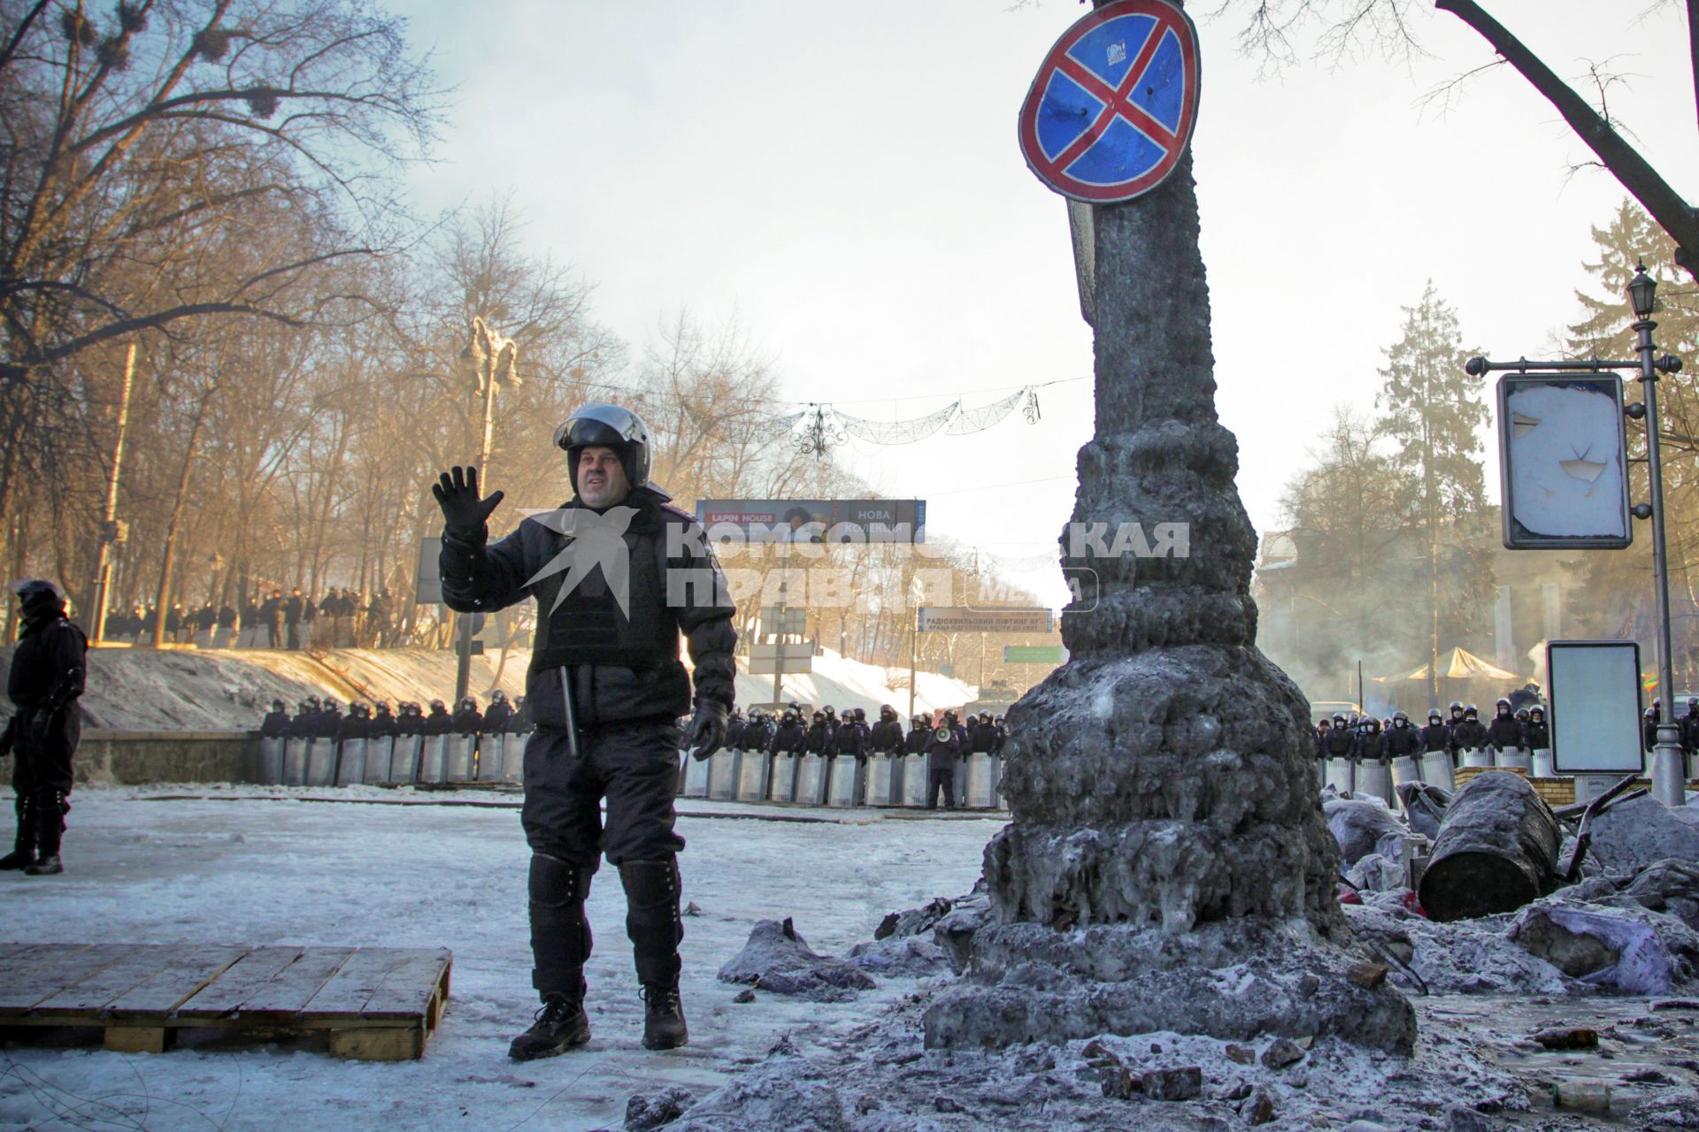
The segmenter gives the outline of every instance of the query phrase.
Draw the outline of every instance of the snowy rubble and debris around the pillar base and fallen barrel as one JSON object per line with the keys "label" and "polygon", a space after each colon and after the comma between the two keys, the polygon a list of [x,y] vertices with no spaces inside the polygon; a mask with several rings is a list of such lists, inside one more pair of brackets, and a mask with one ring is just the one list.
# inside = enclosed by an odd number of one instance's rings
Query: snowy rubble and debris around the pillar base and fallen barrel
{"label": "snowy rubble and debris around the pillar base and fallen barrel", "polygon": [[[1684,1061],[1691,1051],[1672,1044],[1699,1047],[1699,1003],[1672,998],[1699,995],[1699,806],[1672,813],[1623,786],[1563,811],[1510,774],[1480,776],[1454,798],[1405,787],[1397,811],[1376,799],[1324,798],[1341,849],[1339,899],[1361,959],[1351,979],[1432,1003],[1420,1008],[1422,1040],[1410,1057],[1273,1030],[1257,1040],[1155,1030],[928,1047],[926,1010],[958,983],[975,932],[992,918],[980,883],[967,896],[885,916],[875,939],[843,959],[814,952],[788,920],[756,925],[720,969],[739,1001],[843,1001],[889,979],[911,979],[914,989],[848,1040],[780,1040],[712,1093],[634,1096],[625,1127],[1482,1132],[1595,1127],[1589,1105],[1609,1108],[1621,1127],[1699,1127],[1699,1061]],[[1493,901],[1502,906],[1480,915],[1425,906]],[[1254,998],[1252,967],[1210,974],[1223,986],[1237,979]],[[1655,1069],[1633,1061],[1646,1042],[1658,1042]],[[1583,1073],[1577,1051],[1606,1059],[1595,1068],[1607,1084],[1575,1076]],[[1563,1059],[1570,1076],[1553,1074],[1558,1061],[1539,1062],[1541,1054]]]}

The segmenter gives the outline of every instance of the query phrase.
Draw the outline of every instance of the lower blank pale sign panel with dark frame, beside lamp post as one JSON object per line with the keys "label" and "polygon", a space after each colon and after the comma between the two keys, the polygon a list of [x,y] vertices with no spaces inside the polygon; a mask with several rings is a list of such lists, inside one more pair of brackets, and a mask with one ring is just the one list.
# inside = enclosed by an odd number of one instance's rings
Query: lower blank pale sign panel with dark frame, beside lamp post
{"label": "lower blank pale sign panel with dark frame, beside lamp post", "polygon": [[1551,764],[1558,774],[1640,774],[1640,645],[1551,642]]}

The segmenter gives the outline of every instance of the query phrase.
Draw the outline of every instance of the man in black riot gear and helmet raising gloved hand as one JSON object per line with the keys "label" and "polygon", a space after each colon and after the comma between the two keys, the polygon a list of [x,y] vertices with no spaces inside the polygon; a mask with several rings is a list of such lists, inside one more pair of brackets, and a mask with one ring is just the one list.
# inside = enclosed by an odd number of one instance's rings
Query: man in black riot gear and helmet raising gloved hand
{"label": "man in black riot gear and helmet raising gloved hand", "polygon": [[[649,482],[649,429],[590,404],[556,431],[573,499],[486,546],[501,492],[479,497],[477,470],[443,474],[443,601],[489,613],[537,599],[525,747],[535,1023],[513,1040],[520,1061],[590,1040],[584,898],[603,854],[625,888],[625,930],[642,984],[644,1045],[688,1040],[678,996],[678,752],[708,759],[725,740],[734,677],[734,606],[695,518]],[[685,669],[685,636],[695,667]],[[695,689],[691,689],[695,684]],[[688,733],[675,720],[691,711]],[[607,799],[607,828],[600,801]]]}

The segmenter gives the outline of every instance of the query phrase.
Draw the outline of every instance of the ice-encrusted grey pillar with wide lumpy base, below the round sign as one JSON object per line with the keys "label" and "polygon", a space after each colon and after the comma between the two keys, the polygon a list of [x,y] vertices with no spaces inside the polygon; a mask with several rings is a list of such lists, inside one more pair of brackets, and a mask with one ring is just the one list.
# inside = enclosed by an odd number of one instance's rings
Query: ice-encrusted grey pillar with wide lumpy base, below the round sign
{"label": "ice-encrusted grey pillar with wide lumpy base, below the round sign", "polygon": [[[1009,711],[996,922],[928,1010],[928,1044],[1177,1030],[1408,1051],[1410,1005],[1346,976],[1307,704],[1254,645],[1256,531],[1215,416],[1189,156],[1096,209],[1094,316],[1098,424],[1062,555],[1098,592],[1064,613],[1070,660]],[[1094,553],[1133,523],[1145,540]],[[1157,523],[1186,524],[1184,557],[1137,555],[1160,550]]]}

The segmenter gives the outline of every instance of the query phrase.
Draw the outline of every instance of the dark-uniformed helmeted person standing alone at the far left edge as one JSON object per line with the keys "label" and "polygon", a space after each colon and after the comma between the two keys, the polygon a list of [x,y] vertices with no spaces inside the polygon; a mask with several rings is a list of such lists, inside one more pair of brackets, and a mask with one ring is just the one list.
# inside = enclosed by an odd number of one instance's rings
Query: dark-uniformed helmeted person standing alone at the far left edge
{"label": "dark-uniformed helmeted person standing alone at the far left edge", "polygon": [[88,640],[65,616],[65,596],[42,579],[14,587],[24,633],[12,650],[5,694],[17,715],[0,733],[0,754],[12,750],[17,837],[0,869],[27,876],[65,872],[59,842],[70,813],[71,755],[82,735],[85,653]]}

